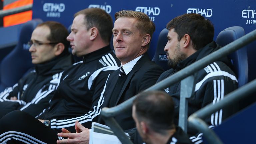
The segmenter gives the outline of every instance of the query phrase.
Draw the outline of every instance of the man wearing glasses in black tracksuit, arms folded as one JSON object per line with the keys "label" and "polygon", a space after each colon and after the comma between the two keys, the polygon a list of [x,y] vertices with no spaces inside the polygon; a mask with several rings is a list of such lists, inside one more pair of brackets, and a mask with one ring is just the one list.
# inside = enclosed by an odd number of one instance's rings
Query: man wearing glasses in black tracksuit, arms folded
{"label": "man wearing glasses in black tracksuit, arms folded", "polygon": [[0,118],[13,110],[22,110],[35,117],[49,107],[59,73],[72,65],[67,35],[67,29],[58,22],[44,22],[35,28],[29,49],[35,70],[0,94]]}

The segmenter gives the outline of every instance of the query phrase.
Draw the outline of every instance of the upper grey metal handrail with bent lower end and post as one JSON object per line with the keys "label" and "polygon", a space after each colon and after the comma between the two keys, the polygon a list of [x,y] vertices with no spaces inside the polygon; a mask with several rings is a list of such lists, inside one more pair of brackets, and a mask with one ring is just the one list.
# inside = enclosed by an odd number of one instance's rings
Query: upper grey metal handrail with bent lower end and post
{"label": "upper grey metal handrail with bent lower end and post", "polygon": [[[243,46],[249,44],[250,42],[252,42],[254,40],[256,40],[256,30],[242,36],[241,38],[229,43],[228,45],[222,47],[221,49],[219,49],[219,50],[209,54],[208,56],[194,62],[193,64],[185,67],[184,69],[180,70],[179,72],[167,77],[166,79],[160,81],[159,83],[149,87],[148,89],[146,89],[144,91],[163,90],[164,88],[166,88],[170,85],[173,85],[173,84],[175,84],[175,83],[177,83],[181,80],[184,81],[183,79],[185,79],[186,77],[189,77],[190,75],[193,75],[195,72],[197,72],[201,68],[211,64],[214,61],[219,60],[223,56],[226,56],[226,55],[238,50],[239,48],[242,48]],[[191,85],[189,85],[189,86],[191,87]],[[181,87],[183,87],[183,86],[181,85]],[[191,93],[190,92],[191,88],[187,88],[187,89],[188,89],[188,92],[185,92],[185,93],[187,93],[187,94]],[[122,143],[130,144],[132,142],[124,134],[123,130],[117,124],[117,122],[115,121],[115,119],[113,117],[122,113],[123,111],[125,111],[127,109],[131,109],[132,108],[132,102],[136,98],[137,95],[135,95],[134,97],[126,100],[125,102],[123,102],[123,103],[121,103],[121,104],[119,104],[115,107],[102,108],[101,115],[102,115],[104,121],[106,122],[106,124],[109,127],[111,127],[113,132],[116,134],[116,136],[119,138],[119,140]],[[188,98],[186,98],[186,96],[181,95],[180,96],[180,101],[183,101],[182,99],[188,99]],[[185,101],[185,104],[186,104],[186,101]],[[186,108],[185,108],[185,110],[186,110]],[[183,114],[184,114],[184,112],[183,112]],[[179,126],[181,126],[181,125],[179,124]]]}

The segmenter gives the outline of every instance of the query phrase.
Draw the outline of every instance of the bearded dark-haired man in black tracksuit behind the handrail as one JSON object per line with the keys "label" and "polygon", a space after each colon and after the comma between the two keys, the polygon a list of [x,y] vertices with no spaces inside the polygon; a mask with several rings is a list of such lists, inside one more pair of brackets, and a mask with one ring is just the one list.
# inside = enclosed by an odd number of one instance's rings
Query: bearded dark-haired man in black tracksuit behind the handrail
{"label": "bearded dark-haired man in black tracksuit behind the handrail", "polygon": [[[212,23],[200,14],[184,14],[172,19],[166,28],[169,30],[168,42],[164,48],[169,60],[170,70],[165,71],[158,79],[161,81],[166,77],[178,72],[195,61],[218,50],[220,46],[213,41],[214,27]],[[237,78],[230,69],[230,60],[223,57],[194,74],[195,90],[188,101],[188,115],[196,112],[202,107],[212,103],[215,104],[223,97],[237,88]],[[179,118],[180,82],[166,88],[175,103],[175,124]],[[230,110],[221,109],[207,118],[211,126],[218,126],[222,120],[230,115]],[[188,129],[189,134],[194,134]],[[202,134],[191,137],[192,142],[201,143]]]}

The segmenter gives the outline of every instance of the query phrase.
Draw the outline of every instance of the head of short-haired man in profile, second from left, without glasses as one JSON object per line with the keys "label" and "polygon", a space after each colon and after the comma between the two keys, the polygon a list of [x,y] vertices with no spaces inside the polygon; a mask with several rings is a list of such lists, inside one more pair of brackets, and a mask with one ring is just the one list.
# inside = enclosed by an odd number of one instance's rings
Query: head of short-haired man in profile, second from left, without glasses
{"label": "head of short-haired man in profile, second from left, without glasses", "polygon": [[109,14],[100,8],[88,8],[77,12],[67,37],[72,54],[83,56],[103,46],[109,45],[113,21]]}

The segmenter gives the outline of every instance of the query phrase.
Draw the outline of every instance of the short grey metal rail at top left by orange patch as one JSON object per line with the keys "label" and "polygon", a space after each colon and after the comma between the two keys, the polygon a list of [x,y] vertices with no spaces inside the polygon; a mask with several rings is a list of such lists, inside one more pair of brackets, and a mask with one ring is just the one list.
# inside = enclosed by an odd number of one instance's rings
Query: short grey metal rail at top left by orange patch
{"label": "short grey metal rail at top left by orange patch", "polygon": [[26,5],[26,6],[22,6],[22,7],[17,7],[17,8],[14,8],[14,9],[0,10],[0,17],[4,17],[4,16],[20,13],[20,12],[32,10],[32,6],[33,5],[30,4],[30,5]]}

